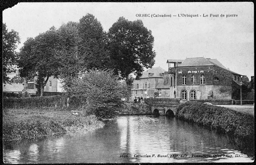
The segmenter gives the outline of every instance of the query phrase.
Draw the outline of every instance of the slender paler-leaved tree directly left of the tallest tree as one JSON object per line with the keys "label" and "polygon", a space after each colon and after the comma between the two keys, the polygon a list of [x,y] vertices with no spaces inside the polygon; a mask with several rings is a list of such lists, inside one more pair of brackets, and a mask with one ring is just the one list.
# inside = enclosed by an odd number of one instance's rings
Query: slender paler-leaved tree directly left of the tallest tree
{"label": "slender paler-leaved tree directly left of the tallest tree", "polygon": [[[81,55],[79,44],[81,37],[78,34],[78,23],[68,22],[57,30],[60,39],[60,49],[56,50],[55,58],[60,64],[59,74],[66,91],[71,87],[71,81],[78,77],[78,73],[84,68],[84,56]],[[67,106],[69,106],[70,94],[68,95]]]}

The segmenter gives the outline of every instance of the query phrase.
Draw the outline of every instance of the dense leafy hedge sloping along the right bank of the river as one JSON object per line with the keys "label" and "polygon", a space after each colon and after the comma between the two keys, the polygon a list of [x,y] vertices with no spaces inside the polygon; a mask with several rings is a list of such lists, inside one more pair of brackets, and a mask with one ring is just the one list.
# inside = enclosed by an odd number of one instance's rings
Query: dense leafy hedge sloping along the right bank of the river
{"label": "dense leafy hedge sloping along the right bank of the river", "polygon": [[238,138],[254,138],[254,117],[225,107],[188,101],[177,107],[176,116]]}

